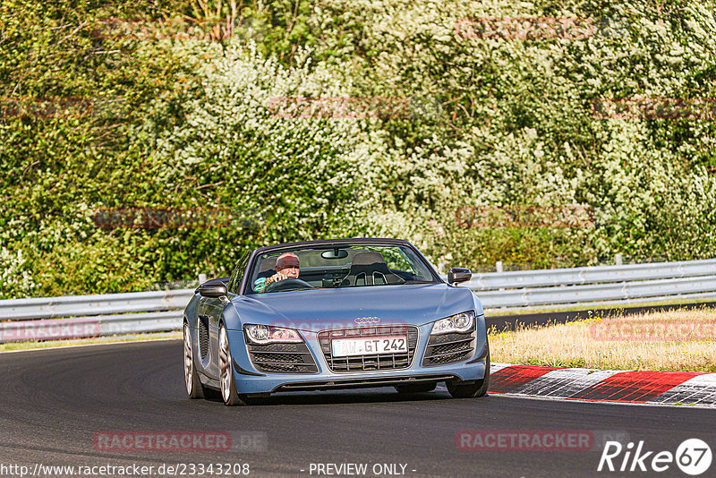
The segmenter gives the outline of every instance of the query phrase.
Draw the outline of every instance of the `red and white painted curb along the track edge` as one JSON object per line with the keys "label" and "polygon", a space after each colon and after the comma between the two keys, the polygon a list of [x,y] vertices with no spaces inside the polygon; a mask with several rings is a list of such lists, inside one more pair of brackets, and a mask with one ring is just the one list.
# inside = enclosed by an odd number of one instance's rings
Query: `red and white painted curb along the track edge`
{"label": "red and white painted curb along the track edge", "polygon": [[716,408],[716,373],[593,370],[492,363],[488,393]]}

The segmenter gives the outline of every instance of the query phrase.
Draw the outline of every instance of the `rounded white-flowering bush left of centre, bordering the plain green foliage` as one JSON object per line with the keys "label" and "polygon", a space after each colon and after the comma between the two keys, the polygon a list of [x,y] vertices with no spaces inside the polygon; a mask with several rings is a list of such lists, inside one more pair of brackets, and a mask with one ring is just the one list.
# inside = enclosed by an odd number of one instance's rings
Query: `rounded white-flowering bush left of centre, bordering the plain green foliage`
{"label": "rounded white-flowering bush left of centre, bordering the plain green foliage", "polygon": [[[351,85],[311,64],[308,54],[298,52],[297,64],[286,68],[253,44],[231,43],[211,60],[200,95],[184,105],[183,124],[159,141],[160,179],[182,190],[175,200],[242,210],[256,219],[247,231],[217,231],[229,256],[236,243],[363,229],[371,194],[362,176],[379,149],[379,137],[364,131],[369,120],[333,110],[313,117],[305,106],[298,115],[280,109],[301,98],[349,96]],[[189,177],[192,184],[186,184]]]}

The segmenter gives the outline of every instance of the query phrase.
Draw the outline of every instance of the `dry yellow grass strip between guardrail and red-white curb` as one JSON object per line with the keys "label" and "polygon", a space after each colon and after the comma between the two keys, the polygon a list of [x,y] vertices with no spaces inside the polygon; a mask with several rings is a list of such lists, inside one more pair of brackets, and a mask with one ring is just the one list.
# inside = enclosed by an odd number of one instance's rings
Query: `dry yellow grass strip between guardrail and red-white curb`
{"label": "dry yellow grass strip between guardrail and red-white curb", "polygon": [[616,370],[716,372],[716,310],[596,317],[490,329],[493,362]]}

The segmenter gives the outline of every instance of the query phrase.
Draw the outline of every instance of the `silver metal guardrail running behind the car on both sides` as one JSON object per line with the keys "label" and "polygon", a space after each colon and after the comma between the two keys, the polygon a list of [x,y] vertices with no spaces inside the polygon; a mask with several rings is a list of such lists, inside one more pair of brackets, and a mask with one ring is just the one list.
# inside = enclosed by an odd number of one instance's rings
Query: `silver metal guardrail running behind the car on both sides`
{"label": "silver metal guardrail running behind the car on both sides", "polygon": [[[485,309],[716,297],[716,260],[473,274]],[[193,289],[0,301],[0,343],[180,329]]]}

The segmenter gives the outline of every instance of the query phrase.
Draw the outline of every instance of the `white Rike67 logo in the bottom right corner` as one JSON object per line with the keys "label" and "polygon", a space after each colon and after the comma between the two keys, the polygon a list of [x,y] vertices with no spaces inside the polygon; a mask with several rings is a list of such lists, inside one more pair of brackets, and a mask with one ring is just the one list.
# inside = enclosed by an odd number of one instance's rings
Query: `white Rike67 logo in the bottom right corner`
{"label": "white Rike67 logo in the bottom right corner", "polygon": [[[622,452],[623,456],[622,456]],[[623,447],[618,441],[607,441],[601,452],[597,471],[609,472],[646,472],[661,473],[669,470],[674,463],[685,474],[698,476],[705,473],[712,462],[712,452],[705,441],[699,439],[684,440],[676,454],[670,451],[646,451],[644,440],[636,448],[633,442]]]}

